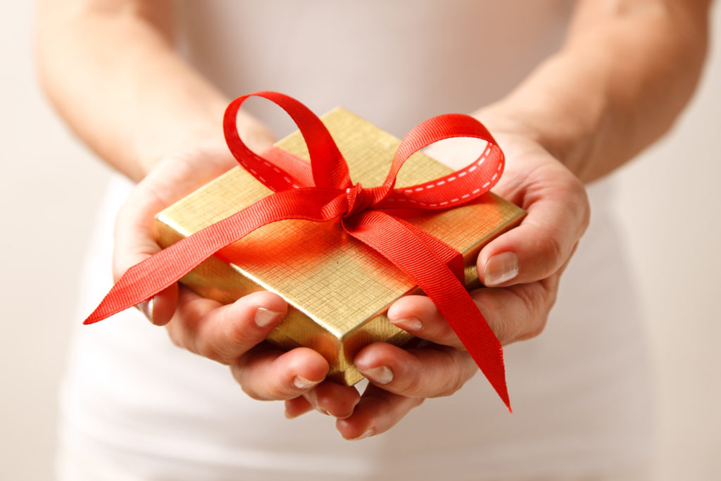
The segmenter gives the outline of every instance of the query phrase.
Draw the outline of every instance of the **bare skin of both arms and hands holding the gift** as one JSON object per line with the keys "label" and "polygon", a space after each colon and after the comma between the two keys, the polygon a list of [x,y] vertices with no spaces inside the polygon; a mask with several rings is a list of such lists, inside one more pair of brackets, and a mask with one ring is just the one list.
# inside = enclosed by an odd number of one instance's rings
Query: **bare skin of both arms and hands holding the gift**
{"label": "bare skin of both arms and hands holding the gift", "polygon": [[[579,1],[561,50],[508,97],[474,112],[506,154],[495,193],[528,211],[477,261],[489,287],[472,297],[501,343],[543,331],[588,226],[585,183],[662,136],[688,102],[704,61],[710,3]],[[171,14],[159,0],[40,1],[37,52],[48,97],[100,158],[138,181],[116,221],[115,278],[159,250],[155,213],[235,165],[217,127],[229,99],[174,52]],[[239,131],[256,150],[273,142],[244,113]],[[431,154],[451,167],[471,159],[435,147]],[[284,400],[290,418],[313,409],[335,416],[348,439],[387,431],[426,397],[453,394],[477,372],[423,296],[400,299],[388,316],[432,344],[361,350],[355,364],[371,381],[362,396],[324,381],[327,363],[313,350],[283,353],[263,342],[286,312],[275,294],[222,306],[172,286],[144,307],[174,343],[230,366],[249,396]]]}

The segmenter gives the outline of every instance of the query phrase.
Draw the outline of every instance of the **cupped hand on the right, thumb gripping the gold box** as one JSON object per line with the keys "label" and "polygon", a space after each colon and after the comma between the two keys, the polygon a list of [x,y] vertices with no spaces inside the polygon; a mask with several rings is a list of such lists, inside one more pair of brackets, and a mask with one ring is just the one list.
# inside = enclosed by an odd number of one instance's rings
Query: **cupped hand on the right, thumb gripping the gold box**
{"label": "cupped hand on the right, thumb gripping the gold box", "polygon": [[[588,226],[590,207],[583,183],[539,144],[515,134],[494,135],[507,162],[494,192],[528,215],[480,252],[477,268],[487,288],[472,291],[471,296],[505,345],[535,337],[544,329],[559,278]],[[458,168],[473,158],[466,149],[463,144],[438,144],[429,153]],[[430,343],[410,350],[376,343],[358,353],[355,365],[371,384],[353,415],[337,421],[344,438],[387,431],[425,398],[453,394],[477,372],[459,338],[427,297],[399,299],[388,317]]]}

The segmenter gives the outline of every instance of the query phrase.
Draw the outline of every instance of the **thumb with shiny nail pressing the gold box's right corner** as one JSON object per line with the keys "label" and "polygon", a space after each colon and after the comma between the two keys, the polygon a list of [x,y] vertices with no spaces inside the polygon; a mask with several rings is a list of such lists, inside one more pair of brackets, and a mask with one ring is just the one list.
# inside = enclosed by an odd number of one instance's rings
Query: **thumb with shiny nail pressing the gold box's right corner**
{"label": "thumb with shiny nail pressing the gold box's right corner", "polygon": [[[547,278],[570,257],[590,218],[585,187],[565,168],[537,175],[523,195],[528,215],[478,256],[485,286],[510,286]],[[556,172],[558,171],[558,172]]]}

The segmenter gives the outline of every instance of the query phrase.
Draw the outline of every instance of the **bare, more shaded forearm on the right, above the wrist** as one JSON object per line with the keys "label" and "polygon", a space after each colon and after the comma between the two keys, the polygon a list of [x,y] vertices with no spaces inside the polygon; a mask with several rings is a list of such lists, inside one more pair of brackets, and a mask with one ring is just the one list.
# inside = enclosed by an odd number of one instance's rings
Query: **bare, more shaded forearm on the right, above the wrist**
{"label": "bare, more shaded forearm on the right, above the wrist", "polygon": [[531,136],[584,182],[671,127],[694,91],[708,1],[583,1],[565,46],[507,98],[479,111]]}

